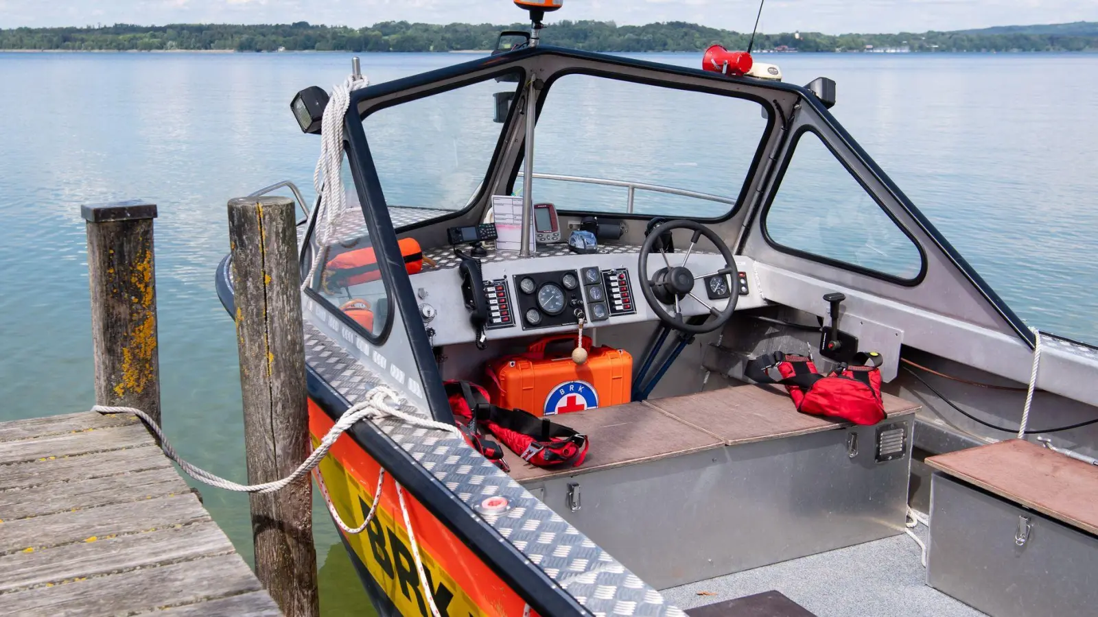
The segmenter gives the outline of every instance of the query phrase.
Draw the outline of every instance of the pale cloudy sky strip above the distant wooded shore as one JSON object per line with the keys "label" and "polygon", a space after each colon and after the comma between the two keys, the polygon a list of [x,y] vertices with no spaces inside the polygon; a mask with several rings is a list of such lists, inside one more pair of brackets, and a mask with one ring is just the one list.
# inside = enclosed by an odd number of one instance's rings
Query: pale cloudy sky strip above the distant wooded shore
{"label": "pale cloudy sky strip above the distant wooded shore", "polygon": [[[750,31],[754,0],[567,0],[554,19],[686,21]],[[361,27],[382,21],[511,23],[508,0],[0,0],[0,27],[136,23],[289,23]],[[762,32],[887,33],[1098,21],[1098,0],[770,0]]]}

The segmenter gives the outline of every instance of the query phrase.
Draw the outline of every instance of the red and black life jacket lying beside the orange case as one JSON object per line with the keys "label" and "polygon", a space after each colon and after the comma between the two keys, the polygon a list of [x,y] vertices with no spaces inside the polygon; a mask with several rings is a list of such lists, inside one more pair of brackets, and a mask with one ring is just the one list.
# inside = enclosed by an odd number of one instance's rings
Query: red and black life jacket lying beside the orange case
{"label": "red and black life jacket lying beside the orange case", "polygon": [[[488,391],[474,383],[448,381],[445,385],[455,419],[459,425],[472,427],[470,433],[475,437],[467,435],[469,445],[489,460],[498,461],[496,465],[504,471],[507,469],[502,460],[503,453],[498,452],[498,459],[490,456],[496,453],[493,447],[498,447],[479,435],[482,428],[530,464],[542,468],[583,464],[589,447],[586,435],[522,410],[504,410],[492,405]],[[485,444],[490,445],[486,448],[489,453],[482,449]]]}

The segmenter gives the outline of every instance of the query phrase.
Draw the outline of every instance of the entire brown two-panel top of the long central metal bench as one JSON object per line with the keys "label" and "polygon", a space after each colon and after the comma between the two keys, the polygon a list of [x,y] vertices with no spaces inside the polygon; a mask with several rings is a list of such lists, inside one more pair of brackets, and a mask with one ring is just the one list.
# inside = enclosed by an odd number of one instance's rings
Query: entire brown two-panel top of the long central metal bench
{"label": "entire brown two-panel top of the long central metal bench", "polygon": [[[888,417],[915,413],[917,403],[884,394]],[[541,469],[505,449],[511,476],[540,481],[654,461],[702,450],[780,439],[850,426],[802,414],[783,389],[733,385],[709,392],[626,403],[553,418],[587,436],[591,449],[579,468]]]}

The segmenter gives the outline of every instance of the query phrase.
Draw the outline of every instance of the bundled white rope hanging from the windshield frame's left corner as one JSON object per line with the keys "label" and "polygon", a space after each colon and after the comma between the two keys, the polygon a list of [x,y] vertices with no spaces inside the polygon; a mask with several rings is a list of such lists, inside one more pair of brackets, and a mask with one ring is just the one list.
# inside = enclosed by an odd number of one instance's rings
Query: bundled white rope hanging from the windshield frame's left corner
{"label": "bundled white rope hanging from the windshield frame's left corner", "polygon": [[[316,246],[322,251],[335,231],[336,221],[347,207],[341,178],[344,116],[350,106],[350,93],[369,85],[370,80],[361,75],[349,76],[346,81],[332,88],[328,104],[324,108],[324,117],[321,120],[321,156],[316,159],[316,168],[313,170],[313,188],[316,189],[316,194],[321,195],[315,233]],[[322,256],[313,257],[313,266],[309,270],[309,276],[302,281],[302,290],[309,287],[310,281],[316,276],[316,269],[322,261]]]}

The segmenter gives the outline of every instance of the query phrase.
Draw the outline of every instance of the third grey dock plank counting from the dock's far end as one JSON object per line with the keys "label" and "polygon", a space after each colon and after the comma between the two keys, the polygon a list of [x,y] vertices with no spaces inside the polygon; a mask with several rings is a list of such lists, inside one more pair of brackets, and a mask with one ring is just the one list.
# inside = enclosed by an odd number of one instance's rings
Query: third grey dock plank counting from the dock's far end
{"label": "third grey dock plank counting from the dock's far end", "polygon": [[172,469],[171,461],[165,458],[160,448],[156,446],[0,465],[0,487],[45,486],[58,482],[92,480],[149,469]]}

